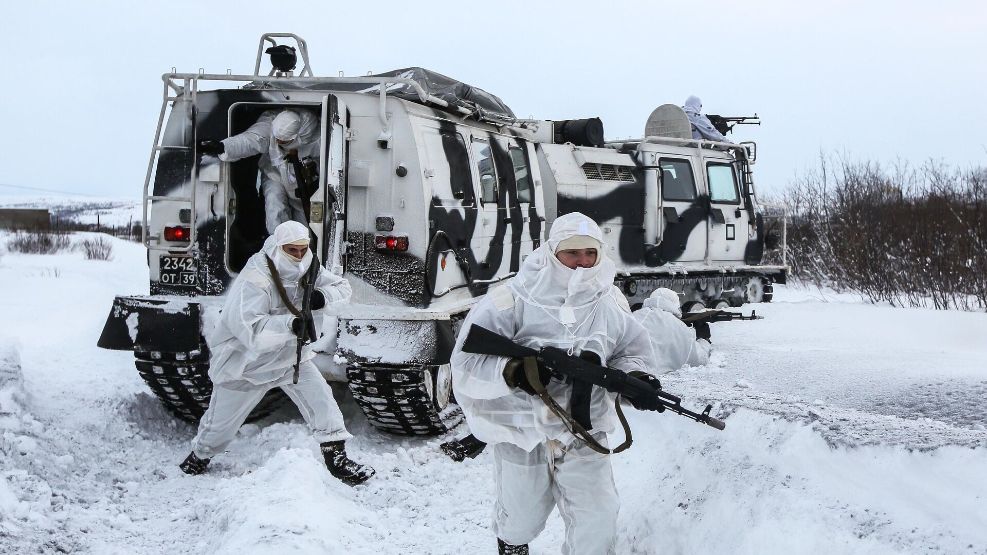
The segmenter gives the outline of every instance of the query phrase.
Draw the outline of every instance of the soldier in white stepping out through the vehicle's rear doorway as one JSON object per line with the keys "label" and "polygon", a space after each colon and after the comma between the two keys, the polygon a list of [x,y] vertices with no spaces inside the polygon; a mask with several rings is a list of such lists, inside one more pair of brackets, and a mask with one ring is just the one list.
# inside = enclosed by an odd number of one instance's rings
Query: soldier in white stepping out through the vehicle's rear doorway
{"label": "soldier in white stepping out through the vehicle's rear doorway", "polygon": [[198,151],[218,156],[223,162],[261,154],[261,190],[270,234],[282,222],[306,221],[298,195],[311,196],[314,191],[299,183],[307,180],[296,174],[299,167],[313,167],[306,166],[307,160],[318,160],[319,130],[319,118],[305,110],[268,110],[240,134],[199,142]]}

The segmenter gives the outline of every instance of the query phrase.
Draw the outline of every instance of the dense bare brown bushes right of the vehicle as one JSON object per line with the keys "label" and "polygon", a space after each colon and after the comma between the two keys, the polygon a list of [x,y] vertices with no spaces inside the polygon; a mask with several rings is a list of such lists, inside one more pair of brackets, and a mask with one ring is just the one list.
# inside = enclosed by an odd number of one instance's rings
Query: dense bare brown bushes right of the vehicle
{"label": "dense bare brown bushes right of the vehicle", "polygon": [[785,194],[793,277],[892,305],[987,307],[985,177],[821,156]]}

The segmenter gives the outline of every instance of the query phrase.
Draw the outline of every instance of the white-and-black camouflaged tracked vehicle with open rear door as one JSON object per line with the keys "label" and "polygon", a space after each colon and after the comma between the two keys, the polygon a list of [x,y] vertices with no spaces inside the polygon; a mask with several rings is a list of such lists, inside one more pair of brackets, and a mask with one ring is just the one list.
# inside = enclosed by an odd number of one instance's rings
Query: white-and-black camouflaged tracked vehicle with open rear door
{"label": "white-and-black camouflaged tracked vehicle with open rear door", "polygon": [[[280,39],[297,42],[298,76],[261,73],[266,44]],[[784,259],[761,264],[754,145],[691,139],[674,106],[652,114],[642,139],[605,142],[599,119],[517,119],[495,96],[421,68],[315,77],[292,35],[261,39],[253,75],[163,79],[144,183],[150,295],[117,297],[99,346],[134,351],[148,385],[192,422],[211,391],[203,335],[266,238],[259,157],[220,162],[197,145],[272,109],[319,118],[310,226],[320,260],[353,285],[315,362],[389,432],[459,422],[449,369],[458,325],[560,214],[600,224],[632,305],[658,286],[692,307],[770,300],[771,283],[787,276]]]}

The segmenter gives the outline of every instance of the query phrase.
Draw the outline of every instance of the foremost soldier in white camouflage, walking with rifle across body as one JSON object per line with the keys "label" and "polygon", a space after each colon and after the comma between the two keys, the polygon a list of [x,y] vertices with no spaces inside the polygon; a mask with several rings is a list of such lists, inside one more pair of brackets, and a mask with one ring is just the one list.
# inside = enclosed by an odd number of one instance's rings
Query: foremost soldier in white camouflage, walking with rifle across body
{"label": "foremost soldier in white camouflage, walking with rifle across body", "polygon": [[[556,506],[566,523],[563,553],[613,549],[619,500],[606,444],[616,429],[616,396],[588,382],[551,379],[545,368],[527,371],[520,359],[464,351],[466,331],[476,324],[525,347],[558,347],[652,378],[645,373],[654,365],[647,333],[613,285],[616,268],[602,239],[583,214],[558,218],[517,276],[470,311],[453,351],[456,398],[473,433],[493,445],[493,532],[501,554],[528,553]],[[541,392],[572,416],[549,410]],[[640,408],[658,410],[645,404]],[[570,421],[585,434],[573,435]]]}

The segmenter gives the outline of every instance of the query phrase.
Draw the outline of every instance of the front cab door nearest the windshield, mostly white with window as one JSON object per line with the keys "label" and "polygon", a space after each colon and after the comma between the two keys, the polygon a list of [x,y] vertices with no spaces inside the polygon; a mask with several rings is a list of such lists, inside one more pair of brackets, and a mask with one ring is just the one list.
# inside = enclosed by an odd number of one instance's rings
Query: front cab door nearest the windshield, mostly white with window
{"label": "front cab door nearest the windshield, mostly white with window", "polygon": [[705,173],[710,191],[710,260],[742,263],[750,218],[736,168],[727,160],[706,160]]}

